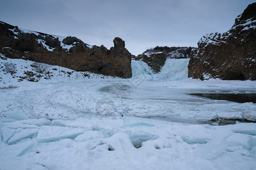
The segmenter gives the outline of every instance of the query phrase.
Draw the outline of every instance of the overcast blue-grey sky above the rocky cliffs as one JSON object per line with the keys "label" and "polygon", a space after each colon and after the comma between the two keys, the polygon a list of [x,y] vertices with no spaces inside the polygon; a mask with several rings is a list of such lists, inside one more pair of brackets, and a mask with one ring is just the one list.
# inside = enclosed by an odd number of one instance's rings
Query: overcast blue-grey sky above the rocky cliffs
{"label": "overcast blue-grey sky above the rocky cliffs", "polygon": [[252,0],[1,0],[0,20],[90,45],[125,40],[132,54],[155,46],[197,46],[226,32]]}

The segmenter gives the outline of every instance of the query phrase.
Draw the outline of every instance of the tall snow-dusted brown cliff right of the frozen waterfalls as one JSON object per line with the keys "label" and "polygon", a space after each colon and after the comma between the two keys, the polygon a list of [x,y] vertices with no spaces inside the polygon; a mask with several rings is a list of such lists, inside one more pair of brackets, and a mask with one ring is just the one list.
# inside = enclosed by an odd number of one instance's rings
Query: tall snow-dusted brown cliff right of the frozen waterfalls
{"label": "tall snow-dusted brown cliff right of the frozen waterfalls", "polygon": [[201,80],[256,80],[256,3],[225,33],[210,33],[192,50],[188,76]]}

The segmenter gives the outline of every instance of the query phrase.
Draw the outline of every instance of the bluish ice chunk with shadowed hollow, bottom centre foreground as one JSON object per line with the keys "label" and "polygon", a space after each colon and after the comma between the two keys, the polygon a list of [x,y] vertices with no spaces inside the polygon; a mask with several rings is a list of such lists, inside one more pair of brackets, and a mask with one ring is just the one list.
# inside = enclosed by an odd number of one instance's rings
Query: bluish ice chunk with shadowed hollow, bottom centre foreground
{"label": "bluish ice chunk with shadowed hollow, bottom centre foreground", "polygon": [[142,146],[142,142],[157,139],[158,136],[154,134],[149,133],[134,133],[130,135],[131,143],[133,143],[133,146],[136,148],[139,148]]}

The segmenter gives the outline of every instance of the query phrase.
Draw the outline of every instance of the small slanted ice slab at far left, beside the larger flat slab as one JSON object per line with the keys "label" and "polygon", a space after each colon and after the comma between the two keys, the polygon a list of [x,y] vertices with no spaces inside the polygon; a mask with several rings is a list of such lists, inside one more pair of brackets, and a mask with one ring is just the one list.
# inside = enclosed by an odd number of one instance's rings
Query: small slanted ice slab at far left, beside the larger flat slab
{"label": "small slanted ice slab at far left, beside the larger flat slab", "polygon": [[32,138],[38,133],[39,129],[18,129],[13,137],[8,141],[9,145],[13,145],[16,142],[19,142],[22,139]]}

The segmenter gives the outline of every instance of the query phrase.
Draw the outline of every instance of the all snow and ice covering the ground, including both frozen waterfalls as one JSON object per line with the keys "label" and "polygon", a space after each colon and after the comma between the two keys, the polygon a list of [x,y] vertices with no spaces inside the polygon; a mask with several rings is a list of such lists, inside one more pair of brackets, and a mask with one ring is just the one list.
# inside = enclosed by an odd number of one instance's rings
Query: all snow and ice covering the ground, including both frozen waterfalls
{"label": "all snow and ice covering the ground, including both frozen waterfalls", "polygon": [[256,124],[217,126],[255,122],[256,104],[189,95],[255,94],[256,82],[188,79],[188,59],[167,59],[159,74],[132,61],[133,78],[119,79],[58,66],[36,76],[33,62],[3,58],[0,169],[256,167]]}

